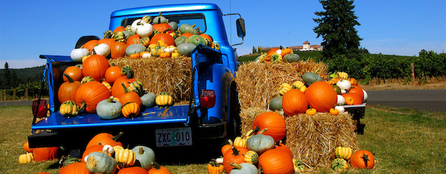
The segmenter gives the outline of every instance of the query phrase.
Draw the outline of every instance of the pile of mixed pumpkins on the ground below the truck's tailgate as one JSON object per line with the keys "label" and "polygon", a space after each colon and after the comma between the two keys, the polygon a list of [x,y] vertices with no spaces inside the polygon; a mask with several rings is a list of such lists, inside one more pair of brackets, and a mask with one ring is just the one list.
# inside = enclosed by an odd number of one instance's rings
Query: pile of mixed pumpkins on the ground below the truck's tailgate
{"label": "pile of mixed pumpkins on the ground below the truck's tailgate", "polygon": [[[62,157],[59,173],[171,173],[155,161],[155,152],[148,146],[123,148],[123,144],[117,140],[121,135],[96,134],[86,145],[82,158]],[[24,150],[27,153],[20,155],[20,164],[56,159],[59,148],[29,148],[26,142]]]}

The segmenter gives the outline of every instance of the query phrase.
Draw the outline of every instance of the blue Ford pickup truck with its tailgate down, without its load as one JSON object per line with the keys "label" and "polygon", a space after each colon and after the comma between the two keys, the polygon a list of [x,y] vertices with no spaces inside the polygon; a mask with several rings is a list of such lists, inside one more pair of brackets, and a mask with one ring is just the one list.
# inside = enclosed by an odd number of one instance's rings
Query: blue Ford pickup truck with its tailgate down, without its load
{"label": "blue Ford pickup truck with its tailgate down, without its load", "polygon": [[[59,84],[54,79],[56,74],[53,70],[59,68],[63,71],[63,68],[76,63],[70,56],[41,55],[40,58],[47,59],[44,75],[49,86],[49,116],[33,122],[33,134],[28,137],[31,148],[61,146],[68,150],[82,149],[91,137],[100,132],[123,132],[121,142],[129,145],[142,143],[157,149],[193,147],[202,145],[206,140],[233,139],[240,134],[240,107],[235,83],[238,56],[228,41],[220,8],[210,3],[194,3],[117,10],[111,15],[109,29],[131,24],[144,15],[156,16],[159,13],[169,21],[177,22],[178,26],[196,24],[220,45],[220,50],[199,45],[192,51],[190,101],[170,106],[167,113],[156,106],[146,108],[133,119],[102,120],[95,113],[64,117],[58,111],[60,103],[56,97]],[[241,17],[236,19],[236,27],[243,42],[245,25]],[[82,45],[88,38],[95,37],[82,37],[77,45]]]}

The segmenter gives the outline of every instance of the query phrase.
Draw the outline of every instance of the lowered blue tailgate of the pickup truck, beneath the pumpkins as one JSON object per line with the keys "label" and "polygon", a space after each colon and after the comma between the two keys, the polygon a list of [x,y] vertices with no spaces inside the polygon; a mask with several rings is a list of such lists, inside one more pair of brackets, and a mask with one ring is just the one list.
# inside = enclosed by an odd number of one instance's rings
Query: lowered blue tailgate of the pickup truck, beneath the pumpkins
{"label": "lowered blue tailgate of the pickup truck, beneath the pumpkins", "polygon": [[68,118],[61,113],[53,113],[51,116],[41,120],[31,127],[37,129],[72,129],[89,127],[117,127],[129,125],[153,125],[164,123],[187,124],[188,104],[170,106],[169,108],[151,107],[141,111],[135,118],[119,117],[112,120],[102,120],[97,114],[84,113],[76,117]]}

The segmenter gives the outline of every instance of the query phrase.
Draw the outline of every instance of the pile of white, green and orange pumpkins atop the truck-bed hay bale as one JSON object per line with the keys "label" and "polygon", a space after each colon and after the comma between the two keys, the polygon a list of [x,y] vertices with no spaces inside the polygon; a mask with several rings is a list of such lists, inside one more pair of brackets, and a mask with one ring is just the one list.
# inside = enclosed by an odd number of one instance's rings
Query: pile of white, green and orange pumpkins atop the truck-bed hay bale
{"label": "pile of white, green and orange pumpkins atop the truck-bed hay bale", "polygon": [[90,40],[82,47],[73,49],[72,61],[81,62],[88,56],[99,54],[107,58],[151,58],[190,56],[199,44],[220,49],[210,35],[201,33],[194,25],[169,22],[160,13],[157,17],[144,16],[131,25],[108,30],[104,38]]}

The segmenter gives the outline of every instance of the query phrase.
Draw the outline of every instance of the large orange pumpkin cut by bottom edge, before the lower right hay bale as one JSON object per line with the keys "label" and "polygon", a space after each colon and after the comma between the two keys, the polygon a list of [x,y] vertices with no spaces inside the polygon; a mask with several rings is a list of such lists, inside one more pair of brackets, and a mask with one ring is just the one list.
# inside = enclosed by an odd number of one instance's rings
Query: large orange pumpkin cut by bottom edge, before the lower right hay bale
{"label": "large orange pumpkin cut by bottom edge, before the lower right hay bale", "polygon": [[265,174],[294,173],[293,157],[285,150],[272,149],[263,152],[259,157],[259,166]]}

